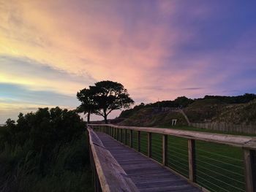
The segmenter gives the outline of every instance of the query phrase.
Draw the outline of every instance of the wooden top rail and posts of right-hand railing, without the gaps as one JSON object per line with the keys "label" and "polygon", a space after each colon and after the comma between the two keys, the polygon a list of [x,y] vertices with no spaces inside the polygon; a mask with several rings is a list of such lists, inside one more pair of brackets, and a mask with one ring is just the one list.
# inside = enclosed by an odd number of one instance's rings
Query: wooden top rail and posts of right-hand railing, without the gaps
{"label": "wooden top rail and posts of right-hand railing, without the gaps", "polygon": [[[244,153],[244,181],[247,192],[256,192],[256,137],[238,136],[230,134],[214,134],[199,131],[184,131],[170,128],[152,128],[136,126],[115,126],[111,124],[89,124],[96,131],[102,131],[110,136],[116,136],[122,141],[122,130],[124,130],[124,143],[127,145],[127,132],[129,130],[129,146],[132,147],[132,132],[138,131],[138,151],[140,151],[140,132],[147,133],[147,153],[152,158],[152,134],[162,134],[162,165],[167,166],[167,136],[175,136],[187,139],[189,182],[197,185],[197,167],[195,156],[195,140],[214,142],[235,147],[240,147]],[[121,133],[121,134],[120,134]],[[119,137],[120,134],[120,138]],[[221,162],[221,161],[219,161]]]}

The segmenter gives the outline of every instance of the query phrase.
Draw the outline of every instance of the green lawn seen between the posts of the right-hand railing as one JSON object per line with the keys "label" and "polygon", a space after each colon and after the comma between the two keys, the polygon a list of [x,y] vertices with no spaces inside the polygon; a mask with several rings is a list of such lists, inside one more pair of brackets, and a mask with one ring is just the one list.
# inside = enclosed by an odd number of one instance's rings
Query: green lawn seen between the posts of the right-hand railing
{"label": "green lawn seen between the posts of the right-hand railing", "polygon": [[[187,130],[186,127],[182,128]],[[198,128],[189,130],[199,131]],[[206,130],[208,131],[208,130]],[[121,141],[121,131],[118,131]],[[117,139],[117,137],[115,137]],[[122,131],[124,143],[124,131]],[[189,177],[187,139],[167,137],[167,166]],[[127,145],[130,145],[127,131]],[[152,158],[162,163],[162,135],[152,134]],[[132,147],[138,150],[138,131],[132,131]],[[196,141],[196,183],[209,191],[246,191],[241,148],[212,142]],[[147,134],[140,133],[140,152],[147,155]]]}

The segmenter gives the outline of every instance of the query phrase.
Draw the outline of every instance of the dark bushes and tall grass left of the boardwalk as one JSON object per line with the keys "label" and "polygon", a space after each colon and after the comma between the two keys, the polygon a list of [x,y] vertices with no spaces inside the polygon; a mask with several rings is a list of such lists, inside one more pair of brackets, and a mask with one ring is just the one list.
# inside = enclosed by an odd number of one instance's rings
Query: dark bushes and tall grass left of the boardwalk
{"label": "dark bushes and tall grass left of the boardwalk", "polygon": [[8,119],[0,128],[0,191],[90,190],[84,132],[79,115],[59,107]]}

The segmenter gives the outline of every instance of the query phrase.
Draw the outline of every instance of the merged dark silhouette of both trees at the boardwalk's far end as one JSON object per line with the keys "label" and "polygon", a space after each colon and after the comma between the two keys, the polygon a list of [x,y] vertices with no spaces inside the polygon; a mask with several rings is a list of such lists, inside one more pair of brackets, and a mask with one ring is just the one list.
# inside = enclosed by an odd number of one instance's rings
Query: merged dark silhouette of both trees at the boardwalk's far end
{"label": "merged dark silhouette of both trees at the boardwalk's far end", "polygon": [[[80,90],[77,96],[82,102],[78,111],[87,115],[101,115],[105,123],[108,123],[108,115],[113,110],[121,110],[134,104],[124,85],[109,80],[96,82],[95,85],[89,86],[89,89]],[[89,118],[87,120],[89,122]]]}

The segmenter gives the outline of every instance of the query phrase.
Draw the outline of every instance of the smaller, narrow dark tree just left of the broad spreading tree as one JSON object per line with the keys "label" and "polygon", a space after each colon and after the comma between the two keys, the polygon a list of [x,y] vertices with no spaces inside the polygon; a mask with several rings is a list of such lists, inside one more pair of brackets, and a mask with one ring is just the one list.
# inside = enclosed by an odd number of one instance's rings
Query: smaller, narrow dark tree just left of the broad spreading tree
{"label": "smaller, narrow dark tree just left of the broad spreading tree", "polygon": [[83,112],[87,115],[87,123],[90,123],[90,115],[95,112],[97,104],[94,102],[94,93],[92,88],[84,88],[77,93],[77,98],[82,104],[78,106],[77,112]]}

